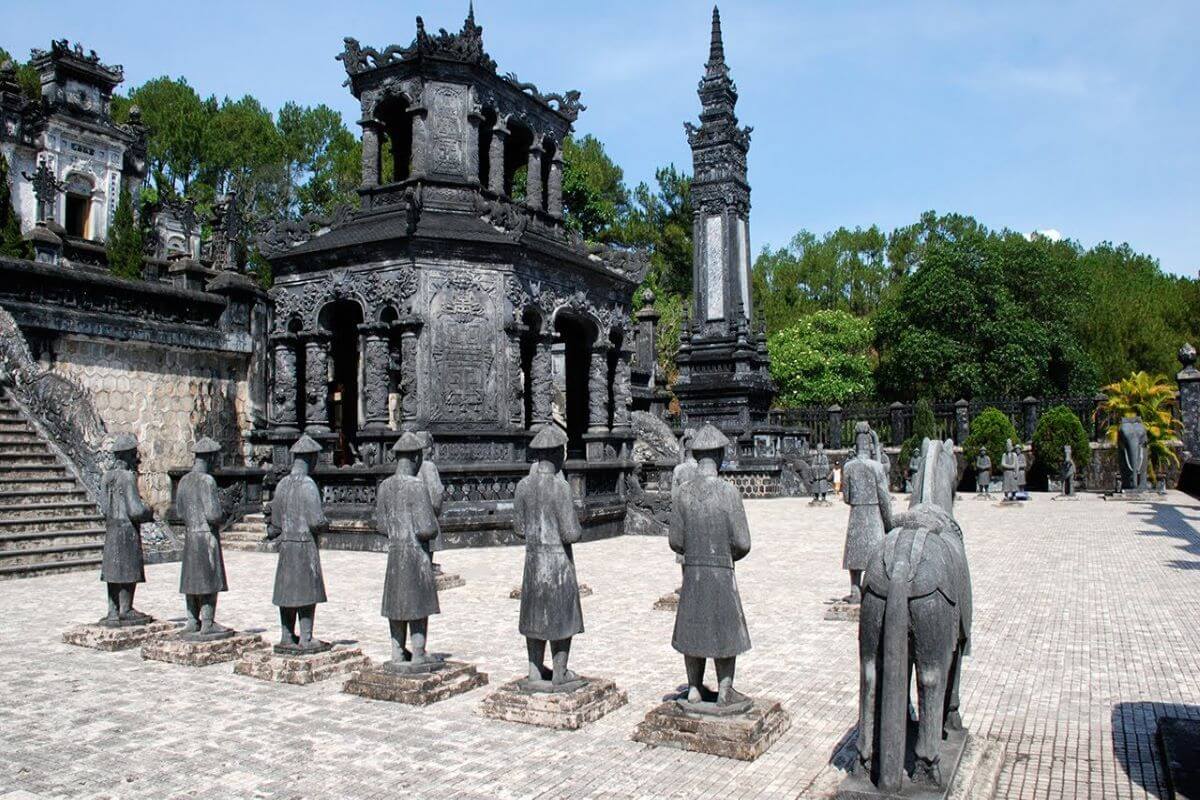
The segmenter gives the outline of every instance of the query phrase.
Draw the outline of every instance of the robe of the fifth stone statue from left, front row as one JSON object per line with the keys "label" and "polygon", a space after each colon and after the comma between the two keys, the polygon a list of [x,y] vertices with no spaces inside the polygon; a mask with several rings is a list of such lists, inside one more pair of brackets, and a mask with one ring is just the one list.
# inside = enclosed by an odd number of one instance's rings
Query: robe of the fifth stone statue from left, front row
{"label": "robe of the fifth stone statue from left, front row", "polygon": [[582,633],[583,608],[571,545],[580,541],[583,529],[571,486],[552,467],[538,464],[517,483],[512,528],[526,542],[521,634],[554,642]]}

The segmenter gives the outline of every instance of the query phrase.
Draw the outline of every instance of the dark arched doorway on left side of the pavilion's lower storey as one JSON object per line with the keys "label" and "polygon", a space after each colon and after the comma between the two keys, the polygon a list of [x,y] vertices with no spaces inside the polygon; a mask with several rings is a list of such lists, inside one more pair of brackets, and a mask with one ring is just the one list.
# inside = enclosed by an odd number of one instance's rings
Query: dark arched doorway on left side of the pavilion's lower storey
{"label": "dark arched doorway on left side of the pavilion's lower storey", "polygon": [[330,431],[337,434],[334,463],[338,467],[355,461],[355,434],[359,429],[360,336],[362,309],[353,300],[337,300],[320,312],[320,326],[329,332],[329,409]]}

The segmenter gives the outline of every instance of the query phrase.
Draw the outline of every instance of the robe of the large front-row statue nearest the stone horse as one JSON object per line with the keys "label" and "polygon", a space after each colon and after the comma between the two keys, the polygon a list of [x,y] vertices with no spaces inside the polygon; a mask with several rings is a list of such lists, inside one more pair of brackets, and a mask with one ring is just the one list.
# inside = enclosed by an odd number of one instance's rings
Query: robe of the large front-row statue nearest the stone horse
{"label": "robe of the large front-row statue nearest the stone horse", "polygon": [[671,509],[671,549],[683,554],[683,588],[676,610],[679,652],[728,658],[750,649],[733,563],[750,552],[750,527],[742,495],[703,471],[688,481]]}

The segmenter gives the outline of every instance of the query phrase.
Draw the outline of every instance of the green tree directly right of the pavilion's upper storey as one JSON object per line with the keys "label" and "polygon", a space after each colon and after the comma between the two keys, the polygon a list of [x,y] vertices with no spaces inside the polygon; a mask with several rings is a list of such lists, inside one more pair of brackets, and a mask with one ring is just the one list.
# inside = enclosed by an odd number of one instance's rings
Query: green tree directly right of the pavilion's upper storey
{"label": "green tree directly right of the pavilion's upper storey", "polygon": [[607,241],[629,213],[625,174],[590,133],[563,140],[563,217],[588,241]]}

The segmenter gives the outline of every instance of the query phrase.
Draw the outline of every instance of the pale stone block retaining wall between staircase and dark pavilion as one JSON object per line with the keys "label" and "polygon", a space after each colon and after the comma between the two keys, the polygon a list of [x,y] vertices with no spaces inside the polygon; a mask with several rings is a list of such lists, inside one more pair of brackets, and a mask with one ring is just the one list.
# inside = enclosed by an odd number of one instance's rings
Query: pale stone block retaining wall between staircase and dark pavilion
{"label": "pale stone block retaining wall between staircase and dark pavilion", "polygon": [[224,463],[241,461],[248,356],[73,336],[50,349],[43,361],[91,392],[109,433],[138,437],[142,497],[156,513],[170,504],[167,470],[191,463],[198,435],[222,444]]}

